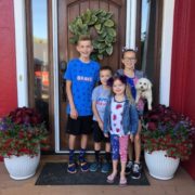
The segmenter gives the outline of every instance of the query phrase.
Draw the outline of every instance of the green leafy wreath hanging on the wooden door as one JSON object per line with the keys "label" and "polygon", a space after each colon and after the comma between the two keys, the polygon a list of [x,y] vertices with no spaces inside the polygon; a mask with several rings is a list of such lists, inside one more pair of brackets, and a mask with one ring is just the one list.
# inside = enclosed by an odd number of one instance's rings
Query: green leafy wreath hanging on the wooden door
{"label": "green leafy wreath hanging on the wooden door", "polygon": [[116,26],[112,20],[113,13],[105,10],[87,10],[69,24],[73,37],[69,42],[76,44],[80,35],[91,35],[93,52],[91,58],[103,60],[112,55],[116,42]]}

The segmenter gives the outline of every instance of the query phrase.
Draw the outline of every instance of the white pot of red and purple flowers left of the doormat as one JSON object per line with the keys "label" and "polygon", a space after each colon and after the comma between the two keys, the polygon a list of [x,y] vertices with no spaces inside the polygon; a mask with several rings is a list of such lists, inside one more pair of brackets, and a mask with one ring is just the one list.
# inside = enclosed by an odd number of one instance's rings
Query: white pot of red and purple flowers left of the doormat
{"label": "white pot of red and purple flowers left of the doormat", "polygon": [[0,156],[4,158],[11,178],[32,177],[40,150],[48,146],[48,131],[34,108],[20,107],[0,119]]}

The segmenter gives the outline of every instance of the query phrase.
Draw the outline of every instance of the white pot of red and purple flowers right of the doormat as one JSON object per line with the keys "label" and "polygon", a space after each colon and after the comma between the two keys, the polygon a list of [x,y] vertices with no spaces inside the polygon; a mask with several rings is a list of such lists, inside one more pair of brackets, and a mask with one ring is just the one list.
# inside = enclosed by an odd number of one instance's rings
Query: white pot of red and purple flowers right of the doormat
{"label": "white pot of red and purple flowers right of the doormat", "polygon": [[188,159],[195,128],[188,117],[157,105],[142,119],[142,142],[150,174],[171,179],[180,160]]}

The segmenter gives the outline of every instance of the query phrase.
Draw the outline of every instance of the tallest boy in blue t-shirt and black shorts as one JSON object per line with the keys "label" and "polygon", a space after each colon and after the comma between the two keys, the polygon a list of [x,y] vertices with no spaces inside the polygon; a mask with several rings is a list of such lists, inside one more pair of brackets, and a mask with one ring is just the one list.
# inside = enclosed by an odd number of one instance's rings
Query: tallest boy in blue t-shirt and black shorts
{"label": "tallest boy in blue t-shirt and black shorts", "polygon": [[69,133],[69,162],[67,172],[76,173],[74,161],[75,142],[78,135],[80,140],[79,164],[81,171],[88,171],[89,165],[84,159],[88,143],[88,134],[91,133],[92,125],[92,90],[99,79],[99,63],[90,60],[93,51],[92,41],[89,36],[80,36],[77,43],[80,56],[68,62],[64,75],[66,79],[67,105],[67,133]]}

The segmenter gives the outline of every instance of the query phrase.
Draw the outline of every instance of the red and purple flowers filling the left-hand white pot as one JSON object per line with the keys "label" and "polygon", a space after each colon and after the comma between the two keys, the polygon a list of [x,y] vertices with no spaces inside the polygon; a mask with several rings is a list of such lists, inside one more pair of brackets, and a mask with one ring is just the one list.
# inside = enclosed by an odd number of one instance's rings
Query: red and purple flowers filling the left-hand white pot
{"label": "red and purple flowers filling the left-hand white pot", "polygon": [[49,148],[48,131],[40,115],[32,108],[21,107],[0,119],[0,156],[35,156],[39,148]]}

